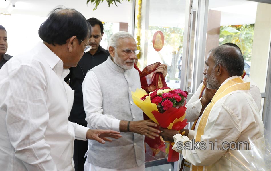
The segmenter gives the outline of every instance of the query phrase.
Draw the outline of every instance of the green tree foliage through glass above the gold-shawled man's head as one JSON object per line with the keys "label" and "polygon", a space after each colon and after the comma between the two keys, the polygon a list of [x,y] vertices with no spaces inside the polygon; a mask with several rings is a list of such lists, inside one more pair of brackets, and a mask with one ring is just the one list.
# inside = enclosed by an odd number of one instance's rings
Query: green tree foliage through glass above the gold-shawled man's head
{"label": "green tree foliage through glass above the gold-shawled man's head", "polygon": [[252,56],[254,24],[221,26],[220,30],[226,27],[234,28],[238,30],[240,34],[223,35],[220,33],[219,45],[228,42],[236,44],[242,50],[244,59],[250,61]]}

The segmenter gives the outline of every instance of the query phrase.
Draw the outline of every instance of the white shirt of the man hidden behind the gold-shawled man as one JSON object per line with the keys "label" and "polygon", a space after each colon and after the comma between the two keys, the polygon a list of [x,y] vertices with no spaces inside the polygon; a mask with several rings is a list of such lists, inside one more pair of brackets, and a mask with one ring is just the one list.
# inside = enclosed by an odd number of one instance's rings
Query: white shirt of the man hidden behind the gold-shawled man
{"label": "white shirt of the man hidden behind the gold-shawled man", "polygon": [[[244,82],[250,82],[249,92],[252,95],[260,111],[262,109],[262,105],[261,105],[262,97],[261,97],[260,89],[258,88],[256,83],[254,83],[247,75],[244,76],[243,80]],[[194,122],[196,119],[199,118],[199,113],[201,112],[201,99],[199,99],[199,95],[201,93],[202,86],[203,86],[203,82],[199,85],[195,94],[191,97],[191,99],[185,105],[185,107],[187,108],[185,119],[187,119],[188,122]],[[203,91],[203,95],[204,94],[205,94],[205,90]]]}

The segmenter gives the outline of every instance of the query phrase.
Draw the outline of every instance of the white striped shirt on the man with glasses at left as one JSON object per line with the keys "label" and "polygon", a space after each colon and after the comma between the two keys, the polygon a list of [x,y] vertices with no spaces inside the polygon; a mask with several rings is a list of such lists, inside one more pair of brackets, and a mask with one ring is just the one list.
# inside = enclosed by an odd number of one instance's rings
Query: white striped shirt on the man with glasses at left
{"label": "white striped shirt on the man with glasses at left", "polygon": [[74,170],[74,138],[86,140],[88,128],[68,121],[74,91],[67,74],[42,42],[1,68],[1,170]]}

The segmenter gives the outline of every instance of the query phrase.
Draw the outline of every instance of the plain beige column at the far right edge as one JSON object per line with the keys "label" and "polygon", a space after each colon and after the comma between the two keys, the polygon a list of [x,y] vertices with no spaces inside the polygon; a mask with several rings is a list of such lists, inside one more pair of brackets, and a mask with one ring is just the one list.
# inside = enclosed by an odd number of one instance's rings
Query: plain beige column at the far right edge
{"label": "plain beige column at the far right edge", "polygon": [[258,3],[254,28],[250,78],[265,92],[270,51],[271,4]]}

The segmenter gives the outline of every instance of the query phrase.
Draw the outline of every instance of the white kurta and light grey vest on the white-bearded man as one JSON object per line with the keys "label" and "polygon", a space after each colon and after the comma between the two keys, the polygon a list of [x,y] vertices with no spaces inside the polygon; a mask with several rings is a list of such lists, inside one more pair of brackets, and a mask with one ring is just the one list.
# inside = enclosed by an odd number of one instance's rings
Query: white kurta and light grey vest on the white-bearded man
{"label": "white kurta and light grey vest on the white-bearded man", "polygon": [[[143,120],[142,110],[131,97],[131,91],[138,87],[141,87],[138,71],[120,68],[111,57],[88,71],[82,84],[88,127],[118,131],[120,120]],[[144,136],[132,132],[121,135],[121,139],[103,146],[88,141],[92,170],[144,170]]]}

